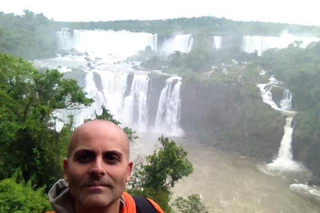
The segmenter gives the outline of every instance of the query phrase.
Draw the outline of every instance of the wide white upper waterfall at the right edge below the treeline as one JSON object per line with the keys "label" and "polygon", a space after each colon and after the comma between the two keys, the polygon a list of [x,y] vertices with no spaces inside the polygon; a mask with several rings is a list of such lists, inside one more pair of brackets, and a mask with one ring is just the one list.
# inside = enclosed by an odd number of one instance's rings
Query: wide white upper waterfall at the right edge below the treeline
{"label": "wide white upper waterfall at the right edge below the treeline", "polygon": [[319,41],[319,37],[303,37],[295,36],[287,32],[282,33],[280,36],[261,36],[261,35],[245,35],[242,38],[241,49],[245,52],[257,51],[258,55],[268,48],[285,48],[288,44],[293,43],[295,40],[302,41],[300,47],[305,48],[313,41]]}

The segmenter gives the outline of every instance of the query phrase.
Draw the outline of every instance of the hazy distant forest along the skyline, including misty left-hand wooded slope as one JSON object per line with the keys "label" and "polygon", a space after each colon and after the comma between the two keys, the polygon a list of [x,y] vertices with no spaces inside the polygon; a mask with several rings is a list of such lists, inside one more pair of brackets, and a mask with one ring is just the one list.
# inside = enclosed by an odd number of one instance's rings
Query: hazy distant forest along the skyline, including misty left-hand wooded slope
{"label": "hazy distant forest along the skyline, including misty left-hand wooded slope", "polygon": [[0,51],[26,59],[53,57],[57,50],[56,31],[60,28],[112,29],[144,31],[158,35],[192,33],[194,37],[209,39],[212,35],[279,35],[286,30],[294,34],[308,33],[320,36],[320,26],[271,23],[259,21],[233,21],[213,16],[173,18],[166,20],[116,20],[98,22],[63,22],[24,10],[23,15],[0,12]]}

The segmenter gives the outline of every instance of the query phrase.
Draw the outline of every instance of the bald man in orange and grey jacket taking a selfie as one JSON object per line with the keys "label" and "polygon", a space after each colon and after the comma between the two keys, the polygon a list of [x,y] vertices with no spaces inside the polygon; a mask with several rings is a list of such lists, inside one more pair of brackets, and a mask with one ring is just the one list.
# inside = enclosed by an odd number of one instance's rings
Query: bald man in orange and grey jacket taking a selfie
{"label": "bald man in orange and grey jacket taking a selfie", "polygon": [[75,129],[63,160],[64,179],[48,196],[56,213],[163,212],[153,200],[124,192],[133,163],[129,140],[116,124],[91,120]]}

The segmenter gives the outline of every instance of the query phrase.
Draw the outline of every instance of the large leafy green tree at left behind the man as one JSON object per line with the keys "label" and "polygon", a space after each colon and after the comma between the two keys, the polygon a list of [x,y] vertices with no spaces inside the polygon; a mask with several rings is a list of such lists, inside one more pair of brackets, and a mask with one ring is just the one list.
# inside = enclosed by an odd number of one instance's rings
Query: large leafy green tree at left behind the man
{"label": "large leafy green tree at left behind the man", "polygon": [[89,105],[92,99],[85,94],[56,69],[39,72],[21,58],[0,53],[0,178],[20,170],[37,187],[59,178],[72,125],[57,132],[53,112]]}

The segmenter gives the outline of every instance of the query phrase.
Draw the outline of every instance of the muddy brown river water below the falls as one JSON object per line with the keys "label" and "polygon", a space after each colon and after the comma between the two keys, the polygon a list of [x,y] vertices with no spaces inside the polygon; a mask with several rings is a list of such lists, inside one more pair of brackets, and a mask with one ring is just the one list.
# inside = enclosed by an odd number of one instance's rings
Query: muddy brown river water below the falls
{"label": "muddy brown river water below the falls", "polygon": [[[131,147],[132,158],[152,153],[158,146],[152,138],[138,139]],[[194,171],[175,184],[172,198],[198,193],[209,212],[320,212],[318,191],[312,195],[304,190],[291,190],[290,184],[297,183],[293,175],[268,175],[260,171],[254,158],[185,139],[176,141],[188,152]]]}

